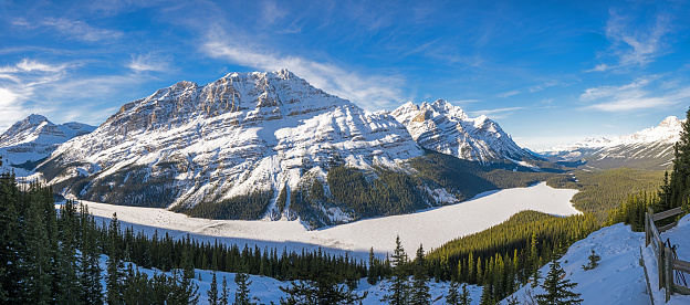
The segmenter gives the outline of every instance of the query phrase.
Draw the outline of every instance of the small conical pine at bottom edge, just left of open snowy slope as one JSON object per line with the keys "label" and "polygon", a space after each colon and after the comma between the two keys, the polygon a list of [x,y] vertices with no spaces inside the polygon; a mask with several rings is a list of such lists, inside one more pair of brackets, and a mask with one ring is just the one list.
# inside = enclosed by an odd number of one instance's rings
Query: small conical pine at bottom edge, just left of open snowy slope
{"label": "small conical pine at bottom edge, just left of open snowy slope", "polygon": [[571,280],[565,280],[565,271],[561,267],[558,262],[558,255],[555,255],[551,261],[548,274],[544,277],[544,294],[536,295],[536,301],[540,305],[566,305],[566,304],[581,304],[583,302],[579,298],[579,293],[574,293],[571,290],[577,286],[577,283],[571,283]]}

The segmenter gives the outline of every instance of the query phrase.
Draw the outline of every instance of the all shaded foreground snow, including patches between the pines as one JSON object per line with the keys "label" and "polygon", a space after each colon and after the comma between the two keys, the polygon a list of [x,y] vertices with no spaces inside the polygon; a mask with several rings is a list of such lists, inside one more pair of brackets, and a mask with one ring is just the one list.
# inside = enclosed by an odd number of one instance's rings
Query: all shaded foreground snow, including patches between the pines
{"label": "all shaded foreground snow, including patches between the pines", "polygon": [[[687,249],[690,244],[690,215],[683,218],[677,229],[673,229],[665,236],[670,238],[675,243],[680,244],[680,249]],[[630,228],[621,223],[600,229],[587,236],[586,239],[573,244],[567,253],[561,259],[563,269],[566,272],[566,278],[577,283],[574,292],[581,293],[584,299],[583,304],[625,304],[625,305],[647,305],[650,304],[649,295],[647,294],[647,284],[645,282],[645,273],[639,265],[640,245],[645,242],[645,235],[640,232],[632,232]],[[590,250],[594,250],[600,255],[602,261],[599,266],[590,271],[584,271],[582,265],[587,263],[587,256],[590,254]],[[690,296],[673,295],[669,303],[663,303],[663,291],[658,291],[655,284],[656,280],[656,263],[652,259],[651,249],[647,248],[645,251],[645,261],[648,267],[648,272],[651,277],[651,288],[655,294],[656,304],[690,304]],[[682,252],[690,253],[690,251]],[[680,253],[679,253],[680,254]],[[682,256],[681,256],[682,259]],[[103,256],[103,266],[105,267],[106,256]],[[151,275],[154,271],[142,270],[143,272]],[[206,270],[197,270],[196,277],[201,277],[201,281],[195,280],[195,283],[199,285],[200,304],[208,304],[206,292],[210,288],[211,272]],[[542,275],[545,276],[548,273],[548,265],[542,267]],[[222,281],[226,276],[228,280],[229,295],[232,298],[237,286],[234,285],[234,274],[218,272],[218,281]],[[274,278],[251,275],[250,285],[251,296],[255,297],[260,304],[270,304],[274,302],[279,304],[280,297],[285,296],[280,286],[288,286],[289,282],[280,282]],[[543,282],[540,281],[540,284]],[[448,293],[448,283],[430,283],[430,293],[432,304],[445,304],[445,296]],[[379,282],[372,286],[366,282],[366,278],[359,281],[358,287],[355,290],[362,294],[367,292],[367,297],[363,304],[385,304],[380,302],[380,298],[386,294],[388,288],[387,282]],[[472,304],[479,304],[482,287],[468,286],[471,293]],[[525,292],[531,290],[529,285],[518,291],[514,295],[518,296],[520,304],[530,304],[525,301]],[[535,288],[532,295],[543,293],[541,287]],[[506,301],[501,302],[506,304]]]}

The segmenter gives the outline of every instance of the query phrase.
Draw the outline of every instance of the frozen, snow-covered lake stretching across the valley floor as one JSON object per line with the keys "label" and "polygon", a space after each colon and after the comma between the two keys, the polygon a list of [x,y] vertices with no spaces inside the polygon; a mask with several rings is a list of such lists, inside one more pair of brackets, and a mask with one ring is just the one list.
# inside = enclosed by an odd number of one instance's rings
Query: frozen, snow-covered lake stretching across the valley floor
{"label": "frozen, snow-covered lake stretching across the valley floor", "polygon": [[164,209],[123,207],[87,202],[90,211],[102,218],[117,218],[124,225],[175,236],[191,233],[199,240],[226,243],[248,243],[260,246],[302,248],[323,246],[353,252],[366,257],[369,248],[385,254],[395,248],[396,235],[402,245],[414,252],[419,244],[426,250],[474,232],[480,232],[508,220],[523,210],[542,211],[556,215],[579,213],[571,203],[576,190],[554,189],[546,183],[529,188],[505,189],[482,193],[458,204],[429,209],[411,214],[367,219],[347,224],[307,231],[299,221],[239,221],[189,218]]}

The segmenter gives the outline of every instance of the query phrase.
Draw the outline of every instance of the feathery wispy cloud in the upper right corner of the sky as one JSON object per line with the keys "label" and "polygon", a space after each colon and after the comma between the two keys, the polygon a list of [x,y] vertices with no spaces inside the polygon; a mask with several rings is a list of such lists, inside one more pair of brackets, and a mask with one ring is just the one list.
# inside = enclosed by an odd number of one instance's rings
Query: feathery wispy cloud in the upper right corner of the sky
{"label": "feathery wispy cloud in the upper right corner of the sky", "polygon": [[[651,23],[637,21],[616,10],[609,11],[605,34],[611,42],[608,55],[616,57],[617,63],[600,63],[587,72],[645,65],[668,52],[669,44],[665,38],[673,30],[670,15],[658,12]],[[635,24],[641,25],[635,27]]]}

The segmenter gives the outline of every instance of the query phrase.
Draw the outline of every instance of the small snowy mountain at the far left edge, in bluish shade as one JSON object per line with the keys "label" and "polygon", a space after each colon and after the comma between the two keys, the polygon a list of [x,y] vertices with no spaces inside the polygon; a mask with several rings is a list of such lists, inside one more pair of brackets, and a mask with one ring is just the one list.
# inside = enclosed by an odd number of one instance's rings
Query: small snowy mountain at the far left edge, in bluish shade
{"label": "small snowy mountain at the far left edge, in bluish shade", "polygon": [[94,129],[95,126],[75,122],[55,125],[42,115],[32,114],[0,135],[0,156],[9,165],[36,161],[50,156],[60,144]]}

